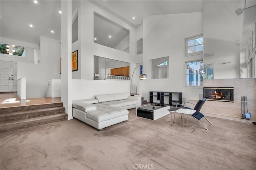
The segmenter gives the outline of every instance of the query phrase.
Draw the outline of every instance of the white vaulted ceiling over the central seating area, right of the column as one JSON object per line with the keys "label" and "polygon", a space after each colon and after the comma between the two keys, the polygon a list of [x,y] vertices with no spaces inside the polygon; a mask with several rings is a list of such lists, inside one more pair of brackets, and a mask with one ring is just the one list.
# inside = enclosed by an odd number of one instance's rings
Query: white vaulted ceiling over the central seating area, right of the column
{"label": "white vaulted ceiling over the central seating area, right of the column", "polygon": [[[203,0],[90,0],[136,27],[152,15],[202,12]],[[133,17],[135,19],[133,19]]]}

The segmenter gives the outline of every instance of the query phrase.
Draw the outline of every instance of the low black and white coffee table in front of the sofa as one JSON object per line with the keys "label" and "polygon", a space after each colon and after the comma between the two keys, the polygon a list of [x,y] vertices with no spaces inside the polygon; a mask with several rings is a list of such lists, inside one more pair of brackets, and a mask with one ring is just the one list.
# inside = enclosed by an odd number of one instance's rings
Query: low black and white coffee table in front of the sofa
{"label": "low black and white coffee table in front of the sofa", "polygon": [[164,117],[166,115],[169,115],[170,112],[168,111],[170,109],[170,106],[155,106],[152,107],[151,105],[144,105],[141,107],[136,108],[136,116],[138,117],[144,117],[151,120],[157,120],[161,117]]}

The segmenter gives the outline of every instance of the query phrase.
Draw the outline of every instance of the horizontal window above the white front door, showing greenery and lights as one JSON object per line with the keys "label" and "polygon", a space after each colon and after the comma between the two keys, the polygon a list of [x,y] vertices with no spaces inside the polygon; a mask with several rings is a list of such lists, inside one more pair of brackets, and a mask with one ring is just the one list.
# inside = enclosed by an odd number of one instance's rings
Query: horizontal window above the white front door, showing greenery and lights
{"label": "horizontal window above the white front door, showing greenery and lights", "polygon": [[0,43],[0,53],[25,57],[25,47]]}

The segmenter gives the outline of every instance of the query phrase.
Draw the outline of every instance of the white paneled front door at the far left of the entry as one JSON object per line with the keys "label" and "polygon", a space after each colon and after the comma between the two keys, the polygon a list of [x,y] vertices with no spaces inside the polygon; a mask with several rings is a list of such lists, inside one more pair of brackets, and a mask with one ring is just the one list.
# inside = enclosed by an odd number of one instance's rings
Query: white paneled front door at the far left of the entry
{"label": "white paneled front door at the far left of the entry", "polygon": [[0,61],[0,92],[17,91],[17,62]]}

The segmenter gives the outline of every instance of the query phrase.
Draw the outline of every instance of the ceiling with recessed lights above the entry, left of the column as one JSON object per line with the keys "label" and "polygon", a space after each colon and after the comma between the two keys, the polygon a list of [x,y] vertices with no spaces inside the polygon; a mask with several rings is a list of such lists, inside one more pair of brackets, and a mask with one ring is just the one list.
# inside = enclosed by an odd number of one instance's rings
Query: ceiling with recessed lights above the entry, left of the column
{"label": "ceiling with recessed lights above the entry, left of the column", "polygon": [[34,44],[40,36],[59,39],[60,10],[60,0],[1,0],[0,36]]}

